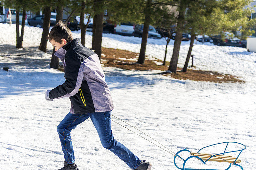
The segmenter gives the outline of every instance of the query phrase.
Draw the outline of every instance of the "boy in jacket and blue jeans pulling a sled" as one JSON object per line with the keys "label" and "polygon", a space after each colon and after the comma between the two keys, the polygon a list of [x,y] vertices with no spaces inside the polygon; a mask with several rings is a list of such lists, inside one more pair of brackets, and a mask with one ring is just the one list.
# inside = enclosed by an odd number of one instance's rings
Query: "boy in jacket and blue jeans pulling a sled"
{"label": "boy in jacket and blue jeans pulling a sled", "polygon": [[63,63],[66,81],[52,90],[47,90],[45,99],[52,101],[69,97],[71,101],[70,112],[57,126],[65,158],[64,167],[60,170],[78,170],[70,132],[89,117],[104,148],[115,153],[131,169],[150,170],[150,162],[140,161],[113,137],[110,111],[114,109],[114,105],[99,57],[82,46],[79,38],[72,39],[71,31],[61,21],[49,33],[49,41],[56,51],[54,55]]}

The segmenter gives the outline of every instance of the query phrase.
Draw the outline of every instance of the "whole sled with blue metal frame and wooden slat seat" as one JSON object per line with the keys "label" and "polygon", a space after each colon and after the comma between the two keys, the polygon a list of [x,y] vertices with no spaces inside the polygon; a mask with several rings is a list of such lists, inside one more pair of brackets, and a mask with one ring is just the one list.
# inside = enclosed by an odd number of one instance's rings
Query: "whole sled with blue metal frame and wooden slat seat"
{"label": "whole sled with blue metal frame and wooden slat seat", "polygon": [[[204,149],[204,148],[207,148],[207,147],[210,147],[210,146],[213,146],[213,145],[224,144],[224,143],[227,143],[227,146],[226,146],[224,152],[222,152],[222,153],[218,153],[218,154],[208,154],[208,153],[201,153],[201,152],[200,152],[200,151],[201,151],[202,149]],[[241,147],[243,147],[243,149],[236,150],[236,151],[226,152],[229,143],[236,143],[236,144],[239,144],[239,145],[241,145]],[[202,162],[203,164],[206,164],[207,161],[227,162],[227,163],[229,163],[228,168],[227,168],[227,169],[224,169],[224,170],[228,170],[228,169],[231,167],[232,164],[233,164],[234,166],[239,166],[242,170],[244,170],[242,166],[238,165],[238,163],[241,162],[241,160],[238,159],[238,157],[239,157],[239,155],[241,154],[241,152],[246,148],[245,145],[243,145],[243,144],[241,144],[241,143],[237,143],[237,142],[222,142],[222,143],[213,144],[213,145],[205,146],[205,147],[201,148],[198,152],[190,152],[190,151],[187,150],[187,149],[182,149],[182,150],[180,150],[180,151],[177,152],[176,155],[174,156],[174,165],[175,165],[178,169],[181,169],[181,170],[216,170],[216,169],[185,168],[185,164],[186,164],[186,162],[188,161],[188,159],[197,158],[197,159],[201,160],[201,162]],[[183,151],[185,151],[185,152],[190,152],[190,154],[191,154],[192,156],[189,156],[189,157],[186,158],[186,159],[181,158],[181,157],[179,156],[179,153],[180,153],[180,152],[183,152]],[[200,152],[200,153],[199,153],[199,152]],[[232,156],[224,155],[224,154],[226,154],[226,153],[231,153],[231,152],[239,152],[239,154],[238,154],[237,157],[232,157]],[[180,159],[182,159],[182,160],[184,161],[182,168],[180,168],[180,167],[177,166],[177,164],[176,164],[176,162],[175,162],[176,157],[179,157]]]}

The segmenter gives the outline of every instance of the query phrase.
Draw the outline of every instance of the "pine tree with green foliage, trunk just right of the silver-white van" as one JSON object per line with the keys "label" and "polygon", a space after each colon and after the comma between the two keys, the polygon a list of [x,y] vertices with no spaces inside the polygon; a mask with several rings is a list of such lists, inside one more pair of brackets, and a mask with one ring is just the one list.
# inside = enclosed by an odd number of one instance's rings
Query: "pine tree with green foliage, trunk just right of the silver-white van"
{"label": "pine tree with green foliage, trunk just right of the silver-white van", "polygon": [[[165,6],[177,6],[178,0],[123,0],[113,2],[110,18],[117,23],[134,22],[144,24],[141,39],[140,55],[137,63],[143,64],[148,39],[149,25],[155,25],[166,13]],[[119,10],[116,10],[119,9]]]}

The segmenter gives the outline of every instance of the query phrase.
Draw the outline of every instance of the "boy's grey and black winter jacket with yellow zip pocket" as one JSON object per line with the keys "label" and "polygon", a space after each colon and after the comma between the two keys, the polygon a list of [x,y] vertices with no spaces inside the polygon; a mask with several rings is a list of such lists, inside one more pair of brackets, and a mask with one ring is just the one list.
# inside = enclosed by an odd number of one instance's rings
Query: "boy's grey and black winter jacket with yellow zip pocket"
{"label": "boy's grey and black winter jacket with yellow zip pocket", "polygon": [[85,114],[114,109],[110,90],[97,54],[73,39],[57,50],[66,81],[49,92],[50,99],[69,97],[70,113]]}

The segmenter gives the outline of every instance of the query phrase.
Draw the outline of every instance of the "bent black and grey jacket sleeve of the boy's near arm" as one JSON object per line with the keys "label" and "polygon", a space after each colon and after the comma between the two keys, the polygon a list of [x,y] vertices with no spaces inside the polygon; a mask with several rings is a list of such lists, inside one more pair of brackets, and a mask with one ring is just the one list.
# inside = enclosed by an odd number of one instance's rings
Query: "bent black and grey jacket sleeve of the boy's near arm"
{"label": "bent black and grey jacket sleeve of the boy's near arm", "polygon": [[74,96],[79,91],[84,77],[84,69],[83,64],[76,56],[68,56],[65,59],[64,77],[66,81],[49,92],[50,99]]}

